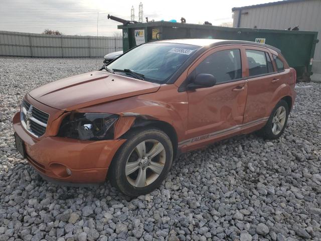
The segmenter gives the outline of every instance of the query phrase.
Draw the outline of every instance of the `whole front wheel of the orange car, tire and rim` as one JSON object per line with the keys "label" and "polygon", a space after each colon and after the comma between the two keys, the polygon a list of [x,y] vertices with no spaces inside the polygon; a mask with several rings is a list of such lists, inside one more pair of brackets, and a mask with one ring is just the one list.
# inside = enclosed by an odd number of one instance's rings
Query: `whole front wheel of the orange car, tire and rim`
{"label": "whole front wheel of the orange car, tire and rim", "polygon": [[117,151],[109,170],[113,186],[128,196],[147,194],[165,179],[173,162],[173,145],[161,130],[137,130]]}

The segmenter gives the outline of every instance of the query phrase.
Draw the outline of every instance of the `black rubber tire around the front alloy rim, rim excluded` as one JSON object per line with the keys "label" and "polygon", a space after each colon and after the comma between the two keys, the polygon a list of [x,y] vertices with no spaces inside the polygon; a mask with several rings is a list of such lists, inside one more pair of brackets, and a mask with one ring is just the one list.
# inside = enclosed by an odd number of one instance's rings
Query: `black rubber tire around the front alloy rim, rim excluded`
{"label": "black rubber tire around the front alloy rim, rim excluded", "polygon": [[[110,169],[108,171],[108,177],[110,180],[110,183],[116,187],[119,191],[124,193],[127,196],[130,197],[136,197],[139,195],[144,195],[147,193],[150,193],[154,189],[156,189],[159,185],[162,184],[164,179],[166,178],[166,175],[168,174],[172,162],[173,162],[173,145],[171,142],[171,139],[161,130],[158,129],[145,129],[145,130],[134,130],[129,132],[126,135],[127,141],[119,148],[116,155],[113,158],[113,161],[111,163]],[[166,153],[166,157],[163,155],[163,159],[166,160],[163,167],[163,170],[161,174],[157,174],[158,177],[155,180],[153,180],[150,184],[144,186],[144,187],[136,187],[132,185],[127,179],[126,173],[125,173],[125,167],[127,164],[127,160],[132,157],[133,152],[136,150],[137,145],[140,143],[146,141],[147,146],[147,140],[155,140],[159,143],[161,143],[164,147],[164,151]],[[163,151],[163,153],[164,153]],[[147,155],[147,147],[146,147],[146,155]],[[137,154],[136,154],[137,155]],[[161,154],[158,154],[161,155]],[[157,158],[157,156],[155,157]],[[161,158],[161,157],[159,157]],[[141,159],[140,159],[141,160]],[[151,159],[153,160],[153,159]],[[143,168],[140,166],[140,168]],[[144,167],[145,173],[148,170],[148,166]],[[137,169],[137,172],[141,170]],[[135,173],[130,174],[135,175]],[[138,178],[137,173],[137,178]],[[156,175],[156,174],[155,174]],[[147,176],[147,174],[146,174]],[[147,182],[145,182],[147,183]]]}

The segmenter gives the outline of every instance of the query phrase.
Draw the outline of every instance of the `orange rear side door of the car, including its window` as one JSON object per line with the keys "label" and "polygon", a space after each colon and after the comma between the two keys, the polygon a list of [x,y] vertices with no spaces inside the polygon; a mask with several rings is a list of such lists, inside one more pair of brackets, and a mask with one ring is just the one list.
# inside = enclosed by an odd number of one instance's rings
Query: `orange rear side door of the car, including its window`
{"label": "orange rear side door of the car, including its window", "polygon": [[270,115],[270,103],[277,88],[285,82],[280,78],[268,49],[245,46],[242,54],[246,58],[248,91],[244,111],[244,124],[262,121]]}

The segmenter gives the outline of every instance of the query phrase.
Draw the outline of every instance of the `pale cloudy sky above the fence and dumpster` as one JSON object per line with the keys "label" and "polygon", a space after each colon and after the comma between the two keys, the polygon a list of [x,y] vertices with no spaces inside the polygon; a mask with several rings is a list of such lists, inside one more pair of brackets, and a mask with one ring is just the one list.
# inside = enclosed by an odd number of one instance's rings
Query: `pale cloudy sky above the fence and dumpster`
{"label": "pale cloudy sky above the fence and dumpster", "polygon": [[[0,30],[42,33],[53,29],[65,35],[113,36],[117,23],[107,19],[111,14],[130,20],[130,10],[134,6],[135,20],[138,21],[138,6],[143,4],[143,19],[180,22],[184,17],[187,23],[198,24],[205,21],[213,25],[233,22],[232,8],[276,0],[0,0]],[[98,18],[97,18],[98,13]]]}

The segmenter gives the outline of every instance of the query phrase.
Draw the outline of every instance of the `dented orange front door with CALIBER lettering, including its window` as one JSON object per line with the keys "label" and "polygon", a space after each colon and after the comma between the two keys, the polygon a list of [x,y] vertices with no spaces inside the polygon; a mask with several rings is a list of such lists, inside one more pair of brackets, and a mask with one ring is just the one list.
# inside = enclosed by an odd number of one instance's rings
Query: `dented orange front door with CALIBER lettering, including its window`
{"label": "dented orange front door with CALIBER lettering, including its window", "polygon": [[245,72],[242,71],[240,48],[215,48],[190,68],[188,79],[200,73],[212,74],[216,84],[188,90],[188,150],[222,139],[242,125],[247,81],[242,78]]}

